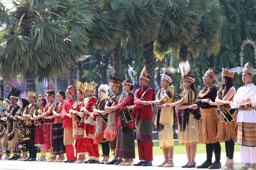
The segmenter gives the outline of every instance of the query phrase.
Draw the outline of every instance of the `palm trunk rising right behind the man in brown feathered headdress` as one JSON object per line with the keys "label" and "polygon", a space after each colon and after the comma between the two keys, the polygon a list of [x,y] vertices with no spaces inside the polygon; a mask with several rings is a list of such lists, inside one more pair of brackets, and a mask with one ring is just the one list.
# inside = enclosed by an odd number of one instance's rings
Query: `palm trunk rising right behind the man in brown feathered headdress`
{"label": "palm trunk rising right behind the man in brown feathered headdress", "polygon": [[[125,80],[123,71],[122,58],[121,58],[121,39],[116,42],[116,46],[113,50],[113,74],[115,77]],[[119,89],[122,92],[122,89]]]}

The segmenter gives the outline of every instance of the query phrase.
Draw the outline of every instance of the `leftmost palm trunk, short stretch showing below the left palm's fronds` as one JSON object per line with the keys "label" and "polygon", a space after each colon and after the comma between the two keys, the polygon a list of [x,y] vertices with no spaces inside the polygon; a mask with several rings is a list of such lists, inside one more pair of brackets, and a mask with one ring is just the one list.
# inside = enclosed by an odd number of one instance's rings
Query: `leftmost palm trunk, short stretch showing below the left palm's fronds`
{"label": "leftmost palm trunk, short stretch showing below the left palm's fronds", "polygon": [[27,69],[24,74],[26,80],[26,92],[32,91],[36,92],[36,76],[34,69]]}

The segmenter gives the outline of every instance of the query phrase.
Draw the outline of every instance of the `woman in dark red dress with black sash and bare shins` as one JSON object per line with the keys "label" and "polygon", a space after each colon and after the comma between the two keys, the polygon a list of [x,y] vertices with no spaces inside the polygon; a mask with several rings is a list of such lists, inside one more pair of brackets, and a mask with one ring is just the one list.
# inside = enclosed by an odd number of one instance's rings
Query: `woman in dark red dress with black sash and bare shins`
{"label": "woman in dark red dress with black sash and bare shins", "polygon": [[47,104],[45,96],[38,94],[37,103],[40,106],[37,108],[33,114],[35,120],[35,146],[40,146],[41,157],[37,161],[45,161],[46,149],[44,146],[44,138],[43,138],[43,122],[44,118],[37,117],[45,111],[45,105]]}

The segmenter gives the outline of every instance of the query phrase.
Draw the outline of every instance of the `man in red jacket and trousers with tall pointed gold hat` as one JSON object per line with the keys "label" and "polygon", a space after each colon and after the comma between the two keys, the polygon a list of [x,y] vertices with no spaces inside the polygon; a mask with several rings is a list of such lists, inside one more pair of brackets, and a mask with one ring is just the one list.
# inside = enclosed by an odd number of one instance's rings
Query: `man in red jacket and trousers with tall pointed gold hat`
{"label": "man in red jacket and trousers with tall pointed gold hat", "polygon": [[148,85],[149,75],[144,67],[139,84],[141,88],[135,90],[132,116],[136,119],[137,144],[139,150],[139,163],[134,166],[152,166],[153,161],[153,141],[152,141],[152,105],[146,101],[154,100],[154,89]]}

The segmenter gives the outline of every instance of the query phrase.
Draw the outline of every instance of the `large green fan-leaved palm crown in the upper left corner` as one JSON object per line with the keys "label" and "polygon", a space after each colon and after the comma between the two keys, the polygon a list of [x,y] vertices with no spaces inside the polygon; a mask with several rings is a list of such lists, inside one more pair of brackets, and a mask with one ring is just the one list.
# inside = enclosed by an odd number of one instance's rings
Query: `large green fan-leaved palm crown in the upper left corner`
{"label": "large green fan-leaved palm crown in the upper left corner", "polygon": [[22,72],[26,91],[36,80],[63,77],[85,53],[98,15],[87,1],[21,0],[10,12],[0,3],[1,75]]}

